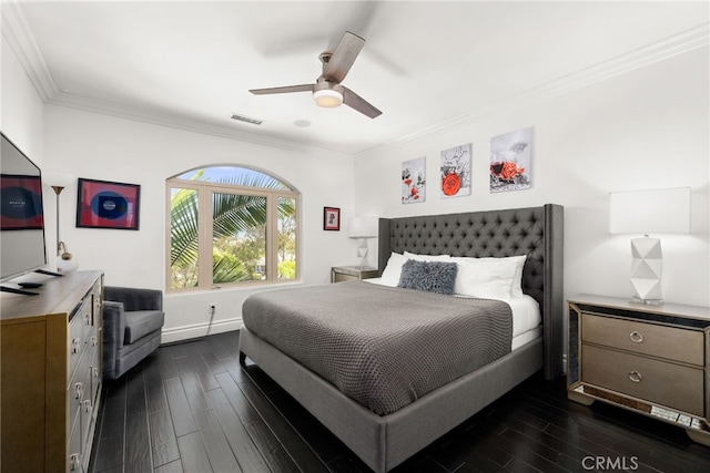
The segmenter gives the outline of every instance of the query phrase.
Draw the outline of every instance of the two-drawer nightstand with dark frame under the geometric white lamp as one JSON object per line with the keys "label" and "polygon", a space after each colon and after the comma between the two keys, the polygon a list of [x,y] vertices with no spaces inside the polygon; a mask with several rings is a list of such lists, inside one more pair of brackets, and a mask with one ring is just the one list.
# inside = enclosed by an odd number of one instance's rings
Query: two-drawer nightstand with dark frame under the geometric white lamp
{"label": "two-drawer nightstand with dark frame under the geometric white lamp", "polygon": [[710,445],[710,308],[580,295],[568,310],[570,400],[639,412]]}

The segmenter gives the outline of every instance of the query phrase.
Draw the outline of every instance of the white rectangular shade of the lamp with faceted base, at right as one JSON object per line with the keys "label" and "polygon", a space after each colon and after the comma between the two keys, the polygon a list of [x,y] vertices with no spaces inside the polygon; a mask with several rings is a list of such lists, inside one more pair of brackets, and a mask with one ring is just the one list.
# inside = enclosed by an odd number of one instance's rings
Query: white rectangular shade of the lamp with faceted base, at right
{"label": "white rectangular shade of the lamp with faceted base, at right", "polygon": [[609,233],[690,233],[690,187],[609,194]]}

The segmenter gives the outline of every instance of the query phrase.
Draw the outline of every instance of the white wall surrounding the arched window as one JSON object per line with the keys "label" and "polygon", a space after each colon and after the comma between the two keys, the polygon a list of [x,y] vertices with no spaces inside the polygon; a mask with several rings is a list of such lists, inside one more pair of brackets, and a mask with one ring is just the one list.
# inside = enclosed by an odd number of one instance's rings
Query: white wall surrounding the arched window
{"label": "white wall surrounding the arched window", "polygon": [[[44,169],[73,176],[62,194],[61,238],[81,269],[105,271],[106,285],[165,288],[165,179],[219,164],[268,171],[302,193],[303,282],[327,282],[332,265],[355,264],[356,243],[347,238],[354,195],[349,156],[295,153],[51,105],[44,132]],[[78,177],[140,184],[140,230],[77,228]],[[341,207],[341,232],[323,230],[324,206]],[[166,294],[163,341],[205,335],[210,304],[216,305],[212,333],[237,328],[242,300],[253,290]]]}

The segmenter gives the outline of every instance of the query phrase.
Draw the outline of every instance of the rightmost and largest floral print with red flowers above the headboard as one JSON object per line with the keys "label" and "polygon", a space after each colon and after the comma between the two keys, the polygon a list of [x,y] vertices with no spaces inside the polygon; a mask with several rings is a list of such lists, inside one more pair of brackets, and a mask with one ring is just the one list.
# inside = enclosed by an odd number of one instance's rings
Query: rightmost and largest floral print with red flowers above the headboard
{"label": "rightmost and largest floral print with red flowers above the headboard", "polygon": [[530,187],[532,127],[490,138],[490,192]]}

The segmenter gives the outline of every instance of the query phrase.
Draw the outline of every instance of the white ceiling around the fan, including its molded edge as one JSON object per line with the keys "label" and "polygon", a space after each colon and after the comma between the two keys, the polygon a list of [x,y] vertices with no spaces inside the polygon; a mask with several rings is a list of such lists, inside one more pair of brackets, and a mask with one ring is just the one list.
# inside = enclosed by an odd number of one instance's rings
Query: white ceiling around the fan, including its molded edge
{"label": "white ceiling around the fan, including its molded edge", "polygon": [[[48,103],[353,155],[708,44],[709,20],[707,1],[3,3]],[[343,84],[379,117],[248,93],[314,82],[345,30],[367,42]]]}

